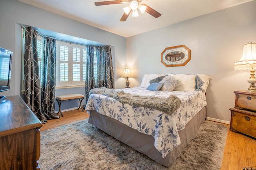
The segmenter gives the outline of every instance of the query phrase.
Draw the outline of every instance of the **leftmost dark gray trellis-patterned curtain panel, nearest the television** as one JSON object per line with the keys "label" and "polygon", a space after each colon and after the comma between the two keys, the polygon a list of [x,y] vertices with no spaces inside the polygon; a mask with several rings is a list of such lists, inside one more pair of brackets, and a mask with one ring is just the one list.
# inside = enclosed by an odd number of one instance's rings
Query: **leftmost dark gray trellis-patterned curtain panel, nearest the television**
{"label": "leftmost dark gray trellis-patterned curtain panel, nearest the television", "polygon": [[46,117],[41,112],[41,89],[37,53],[37,32],[32,27],[26,28],[24,50],[24,89],[25,102],[42,123]]}

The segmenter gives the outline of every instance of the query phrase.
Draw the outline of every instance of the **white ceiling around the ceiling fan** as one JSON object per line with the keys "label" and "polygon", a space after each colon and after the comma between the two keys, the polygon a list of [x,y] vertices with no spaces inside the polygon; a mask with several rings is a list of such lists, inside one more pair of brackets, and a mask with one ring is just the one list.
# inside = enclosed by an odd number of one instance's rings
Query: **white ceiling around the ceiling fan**
{"label": "white ceiling around the ceiling fan", "polygon": [[127,3],[95,6],[94,2],[106,0],[18,1],[123,37],[130,37],[252,0],[143,0],[142,3],[160,12],[162,16],[154,18],[139,11],[135,20],[130,14],[125,22],[119,20],[124,14],[123,8],[128,6]]}

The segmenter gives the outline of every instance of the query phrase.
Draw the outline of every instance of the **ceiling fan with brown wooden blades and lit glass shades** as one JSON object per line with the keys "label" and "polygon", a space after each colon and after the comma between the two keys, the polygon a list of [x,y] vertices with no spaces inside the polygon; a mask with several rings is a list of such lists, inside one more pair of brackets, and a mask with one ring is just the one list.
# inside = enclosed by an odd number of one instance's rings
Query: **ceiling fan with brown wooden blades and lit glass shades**
{"label": "ceiling fan with brown wooden blades and lit glass shades", "polygon": [[101,5],[129,3],[129,6],[123,8],[124,14],[121,17],[120,21],[126,21],[126,19],[128,18],[131,12],[132,12],[132,17],[135,19],[137,16],[139,16],[138,9],[142,14],[146,11],[148,14],[154,16],[155,18],[158,18],[162,15],[156,10],[147,6],[146,4],[141,4],[142,1],[143,0],[110,0],[110,1],[95,2],[94,4],[96,6],[101,6]]}

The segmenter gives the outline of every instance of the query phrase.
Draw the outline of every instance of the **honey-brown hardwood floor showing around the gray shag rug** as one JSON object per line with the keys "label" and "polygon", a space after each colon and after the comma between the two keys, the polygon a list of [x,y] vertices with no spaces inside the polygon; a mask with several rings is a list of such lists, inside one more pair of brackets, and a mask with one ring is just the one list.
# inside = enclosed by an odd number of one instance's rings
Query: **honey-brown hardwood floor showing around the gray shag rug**
{"label": "honey-brown hardwood floor showing around the gray shag rug", "polygon": [[[63,112],[63,115],[60,119],[48,120],[40,130],[89,118],[89,114],[80,109]],[[256,170],[256,140],[228,130],[221,170]]]}

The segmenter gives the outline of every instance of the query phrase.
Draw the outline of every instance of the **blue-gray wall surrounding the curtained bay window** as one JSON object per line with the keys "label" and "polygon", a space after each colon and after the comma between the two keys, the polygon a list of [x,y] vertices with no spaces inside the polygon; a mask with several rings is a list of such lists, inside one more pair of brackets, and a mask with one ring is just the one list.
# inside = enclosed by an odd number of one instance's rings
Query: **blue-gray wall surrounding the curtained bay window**
{"label": "blue-gray wall surrounding the curtained bay window", "polygon": [[[17,0],[0,0],[0,23],[0,47],[13,52],[11,87],[9,91],[0,92],[0,95],[22,96],[22,34],[19,24],[112,45],[113,65],[116,71],[115,79],[117,80],[116,88],[125,87],[125,79],[120,78],[120,76],[126,64],[126,38],[41,10]],[[84,87],[56,90],[56,96],[69,93],[81,93],[85,95],[85,90]],[[83,102],[83,104],[85,104],[85,102]],[[62,105],[62,109],[73,108],[78,105],[78,101],[65,102],[65,104],[63,103]],[[55,106],[56,110],[58,110],[57,104],[55,104]]]}

